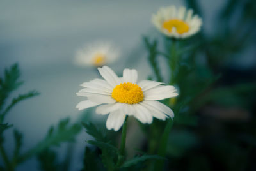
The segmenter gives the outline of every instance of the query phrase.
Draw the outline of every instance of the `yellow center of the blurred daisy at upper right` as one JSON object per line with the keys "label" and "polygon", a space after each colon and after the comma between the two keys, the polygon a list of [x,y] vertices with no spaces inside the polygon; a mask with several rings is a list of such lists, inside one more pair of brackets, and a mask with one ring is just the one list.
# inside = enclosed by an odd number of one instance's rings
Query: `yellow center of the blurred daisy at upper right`
{"label": "yellow center of the blurred daisy at upper right", "polygon": [[186,24],[186,22],[179,19],[167,20],[163,23],[162,27],[168,30],[168,32],[172,32],[173,27],[175,27],[177,33],[179,34],[186,33],[189,31],[188,24]]}

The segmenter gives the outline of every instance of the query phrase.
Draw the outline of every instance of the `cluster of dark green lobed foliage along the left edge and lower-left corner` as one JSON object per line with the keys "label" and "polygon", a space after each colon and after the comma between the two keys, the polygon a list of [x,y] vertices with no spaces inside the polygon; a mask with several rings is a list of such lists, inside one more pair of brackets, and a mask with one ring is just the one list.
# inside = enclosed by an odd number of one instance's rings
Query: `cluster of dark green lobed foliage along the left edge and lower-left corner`
{"label": "cluster of dark green lobed foliage along the left edge and lower-left corner", "polygon": [[[15,170],[15,167],[17,167],[19,163],[22,163],[32,156],[40,153],[38,159],[41,161],[41,168],[43,170],[52,170],[57,167],[54,164],[55,154],[49,150],[49,147],[60,145],[62,142],[74,142],[74,138],[81,130],[81,126],[77,123],[70,124],[69,119],[63,119],[60,121],[58,126],[56,126],[56,128],[52,126],[49,129],[49,132],[44,140],[23,154],[20,152],[20,149],[22,148],[23,136],[19,130],[15,129],[13,130],[15,147],[11,156],[12,158],[10,159],[10,155],[3,147],[3,143],[7,141],[4,139],[3,134],[5,130],[11,128],[13,125],[3,123],[4,117],[6,114],[8,114],[10,109],[20,101],[26,100],[27,98],[31,98],[33,96],[37,96],[39,94],[37,91],[29,91],[25,94],[19,94],[19,96],[17,96],[17,98],[13,98],[10,105],[7,105],[7,107],[3,110],[4,102],[10,93],[12,93],[12,91],[17,89],[22,84],[22,82],[19,80],[19,77],[20,71],[18,64],[14,64],[9,70],[6,69],[3,78],[0,78],[0,152],[1,157],[3,157],[4,169]],[[49,163],[49,161],[51,162]]]}

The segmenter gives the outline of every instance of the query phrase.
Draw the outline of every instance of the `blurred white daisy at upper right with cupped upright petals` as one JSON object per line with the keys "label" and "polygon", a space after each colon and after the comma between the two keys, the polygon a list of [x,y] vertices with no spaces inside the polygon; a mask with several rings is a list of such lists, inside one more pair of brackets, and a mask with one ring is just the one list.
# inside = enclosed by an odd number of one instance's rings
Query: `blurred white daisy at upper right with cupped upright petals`
{"label": "blurred white daisy at upper right with cupped upright petals", "polygon": [[187,10],[184,6],[168,6],[160,8],[152,16],[152,23],[166,36],[188,38],[200,31],[202,19],[198,15],[193,15],[193,10]]}

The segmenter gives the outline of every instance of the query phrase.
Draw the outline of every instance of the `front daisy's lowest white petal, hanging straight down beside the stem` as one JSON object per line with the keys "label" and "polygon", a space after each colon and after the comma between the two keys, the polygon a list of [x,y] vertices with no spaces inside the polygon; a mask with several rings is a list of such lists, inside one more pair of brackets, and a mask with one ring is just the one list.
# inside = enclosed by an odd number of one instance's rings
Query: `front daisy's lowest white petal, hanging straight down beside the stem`
{"label": "front daisy's lowest white petal, hanging straight down beside the stem", "polygon": [[115,131],[118,131],[123,125],[124,119],[125,115],[122,114],[122,112],[119,112],[118,110],[115,112],[111,112],[108,115],[106,127],[108,128],[108,130],[114,129]]}

